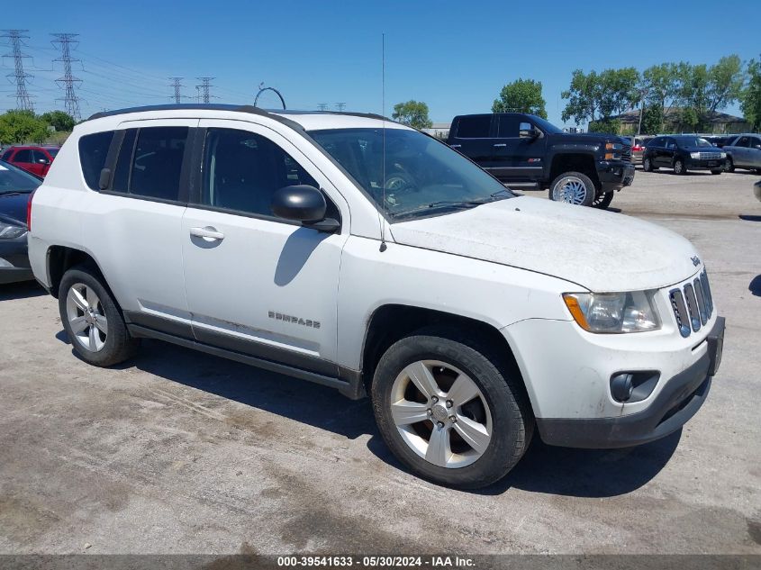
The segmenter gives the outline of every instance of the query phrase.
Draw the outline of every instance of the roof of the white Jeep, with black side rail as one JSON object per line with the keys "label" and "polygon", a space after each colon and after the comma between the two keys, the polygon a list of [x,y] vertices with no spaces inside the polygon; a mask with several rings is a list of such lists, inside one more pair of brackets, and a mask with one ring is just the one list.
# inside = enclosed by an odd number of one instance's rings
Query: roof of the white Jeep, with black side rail
{"label": "roof of the white Jeep, with black side rail", "polygon": [[[265,116],[278,122],[283,122],[294,128],[305,131],[319,131],[324,129],[350,129],[360,127],[380,128],[406,128],[398,122],[374,114],[374,113],[345,113],[337,111],[290,111],[290,110],[266,110],[253,105],[239,104],[159,104],[142,107],[129,107],[126,109],[114,109],[103,113],[95,113],[87,121],[95,121],[104,117],[113,117],[122,114],[133,113],[156,113],[165,112],[174,115],[183,111],[204,111],[222,113],[250,113]],[[172,113],[175,112],[175,113]]]}

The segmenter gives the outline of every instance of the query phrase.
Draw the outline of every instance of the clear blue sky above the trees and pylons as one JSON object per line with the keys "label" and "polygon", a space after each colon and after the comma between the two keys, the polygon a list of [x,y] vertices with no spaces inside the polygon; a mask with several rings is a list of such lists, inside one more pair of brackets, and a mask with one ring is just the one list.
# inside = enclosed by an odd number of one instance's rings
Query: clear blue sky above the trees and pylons
{"label": "clear blue sky above the trees and pylons", "polygon": [[[13,4],[13,3],[12,3]],[[102,108],[168,103],[168,77],[215,77],[215,101],[251,103],[261,82],[289,108],[335,107],[379,113],[381,34],[385,32],[385,112],[417,99],[434,122],[488,112],[501,87],[518,77],[544,85],[549,119],[560,123],[575,68],[639,69],[666,60],[713,63],[761,52],[761,0],[583,2],[91,2],[7,6],[3,28],[28,29],[29,92],[38,112],[60,107],[50,32],[79,34],[75,74],[83,79],[82,114]],[[32,6],[30,5],[30,6]],[[675,13],[675,14],[670,14]],[[673,17],[675,15],[675,17]],[[729,23],[729,25],[728,25]],[[8,52],[5,49],[4,53]],[[4,58],[3,75],[13,70]],[[0,110],[14,107],[14,87],[0,84]],[[275,106],[267,95],[260,106]],[[737,105],[729,108],[737,112]]]}

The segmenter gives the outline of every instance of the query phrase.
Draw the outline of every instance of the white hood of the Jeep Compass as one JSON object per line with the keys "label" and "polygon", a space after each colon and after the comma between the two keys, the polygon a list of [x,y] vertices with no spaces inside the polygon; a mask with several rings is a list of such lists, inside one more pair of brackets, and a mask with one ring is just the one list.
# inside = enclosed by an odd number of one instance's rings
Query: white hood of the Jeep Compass
{"label": "white hood of the Jeep Compass", "polygon": [[695,274],[697,253],[652,223],[520,196],[394,223],[394,241],[555,276],[595,292],[673,285]]}

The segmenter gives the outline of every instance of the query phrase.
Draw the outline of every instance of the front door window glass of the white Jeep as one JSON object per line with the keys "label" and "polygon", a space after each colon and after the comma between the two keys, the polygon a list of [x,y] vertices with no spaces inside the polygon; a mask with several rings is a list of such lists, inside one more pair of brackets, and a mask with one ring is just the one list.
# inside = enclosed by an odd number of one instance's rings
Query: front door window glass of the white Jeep
{"label": "front door window glass of the white Jeep", "polygon": [[208,129],[201,203],[271,217],[272,195],[291,185],[319,187],[285,150],[249,131]]}

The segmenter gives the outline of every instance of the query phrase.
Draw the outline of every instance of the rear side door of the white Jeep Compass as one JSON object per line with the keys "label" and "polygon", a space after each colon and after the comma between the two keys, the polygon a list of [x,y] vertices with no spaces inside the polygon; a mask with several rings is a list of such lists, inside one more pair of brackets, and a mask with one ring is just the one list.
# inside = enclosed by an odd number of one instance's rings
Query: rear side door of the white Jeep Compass
{"label": "rear side door of the white Jeep Compass", "polygon": [[[188,195],[187,154],[198,120],[122,122],[105,149],[109,183],[92,200],[85,243],[128,321],[191,339],[182,265],[182,216]],[[94,135],[95,136],[95,135]],[[84,147],[90,144],[92,151]],[[102,144],[80,140],[88,185],[100,182]]]}

